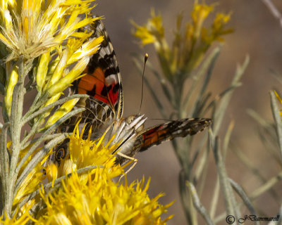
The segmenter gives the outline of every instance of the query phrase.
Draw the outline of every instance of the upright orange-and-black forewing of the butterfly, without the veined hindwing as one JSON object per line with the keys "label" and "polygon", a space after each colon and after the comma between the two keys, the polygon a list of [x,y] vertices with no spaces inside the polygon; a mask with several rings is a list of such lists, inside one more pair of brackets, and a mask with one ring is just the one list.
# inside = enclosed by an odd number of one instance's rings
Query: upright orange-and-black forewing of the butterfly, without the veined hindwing
{"label": "upright orange-and-black forewing of the butterfly, without the veined hindwing", "polygon": [[[92,37],[104,37],[98,53],[90,59],[85,70],[86,75],[73,84],[75,94],[88,94],[92,101],[109,105],[116,118],[123,115],[123,88],[116,53],[101,20],[84,30],[92,30]],[[91,108],[91,104],[87,105]]]}

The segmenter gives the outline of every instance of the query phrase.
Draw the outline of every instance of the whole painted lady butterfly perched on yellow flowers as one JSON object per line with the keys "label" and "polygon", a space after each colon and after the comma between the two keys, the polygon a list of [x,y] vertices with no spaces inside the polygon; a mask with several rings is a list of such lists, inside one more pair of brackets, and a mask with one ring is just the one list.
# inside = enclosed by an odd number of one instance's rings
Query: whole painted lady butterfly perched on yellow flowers
{"label": "whole painted lady butterfly perched on yellow flowers", "polygon": [[[92,139],[101,137],[107,130],[106,139],[116,135],[113,143],[121,142],[118,149],[117,162],[123,163],[139,151],[147,150],[150,146],[162,141],[171,140],[178,136],[194,135],[209,127],[211,119],[182,119],[165,122],[149,129],[144,129],[144,115],[123,117],[123,86],[119,72],[116,54],[104,29],[101,20],[96,20],[85,30],[93,32],[92,38],[104,36],[99,53],[92,56],[85,73],[86,75],[73,83],[72,94],[88,94],[90,98],[80,99],[77,106],[86,110],[66,121],[59,131],[72,132],[76,122],[82,118],[80,126],[86,124],[85,138],[92,126]],[[67,153],[65,140],[56,148],[53,159],[60,162]],[[122,156],[121,156],[122,155]]]}

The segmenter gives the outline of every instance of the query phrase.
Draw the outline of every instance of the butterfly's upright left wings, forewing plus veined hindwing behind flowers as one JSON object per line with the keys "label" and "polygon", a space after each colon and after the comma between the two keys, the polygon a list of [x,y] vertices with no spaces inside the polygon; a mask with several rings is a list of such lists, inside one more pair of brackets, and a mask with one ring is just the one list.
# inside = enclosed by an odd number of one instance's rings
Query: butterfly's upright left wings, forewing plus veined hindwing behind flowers
{"label": "butterfly's upright left wings, forewing plus veined hindwing behind flowers", "polygon": [[[85,111],[64,122],[57,132],[72,132],[75,124],[80,121],[80,127],[85,126],[83,138],[87,138],[92,127],[94,137],[102,136],[114,118],[123,115],[123,88],[121,75],[111,40],[101,20],[95,20],[92,25],[83,27],[80,31],[92,31],[90,38],[104,37],[99,51],[90,58],[85,76],[73,82],[71,94],[88,94],[90,98],[81,98],[76,107]],[[54,151],[53,160],[59,162],[65,158],[68,149],[68,139],[63,141]]]}

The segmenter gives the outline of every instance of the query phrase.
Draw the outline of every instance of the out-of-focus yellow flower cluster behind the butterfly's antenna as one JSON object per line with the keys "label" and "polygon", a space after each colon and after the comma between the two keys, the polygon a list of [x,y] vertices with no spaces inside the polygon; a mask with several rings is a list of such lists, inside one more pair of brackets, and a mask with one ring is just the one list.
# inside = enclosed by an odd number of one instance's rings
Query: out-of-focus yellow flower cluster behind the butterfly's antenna
{"label": "out-of-focus yellow flower cluster behind the butterfly's antenna", "polygon": [[154,44],[161,68],[170,82],[176,79],[175,75],[185,74],[186,77],[190,75],[191,70],[201,63],[204,53],[212,43],[222,41],[223,34],[232,32],[232,29],[226,28],[230,15],[224,13],[216,14],[210,27],[204,26],[204,21],[213,9],[214,5],[195,3],[191,13],[192,21],[185,24],[184,32],[182,30],[183,14],[178,15],[171,48],[164,35],[161,15],[155,15],[152,11],[152,18],[147,24],[140,26],[133,23],[135,37],[139,38],[143,45]]}

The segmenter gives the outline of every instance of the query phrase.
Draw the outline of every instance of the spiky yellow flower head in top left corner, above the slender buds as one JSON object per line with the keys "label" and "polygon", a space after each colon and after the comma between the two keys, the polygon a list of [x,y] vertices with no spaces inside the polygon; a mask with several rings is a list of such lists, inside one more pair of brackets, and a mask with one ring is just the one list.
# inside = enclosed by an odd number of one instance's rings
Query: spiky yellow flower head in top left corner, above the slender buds
{"label": "spiky yellow flower head in top left corner, above the slender buds", "polygon": [[90,1],[2,1],[0,41],[9,49],[6,60],[24,56],[32,60],[59,46],[80,27],[97,18],[80,17],[90,13]]}

